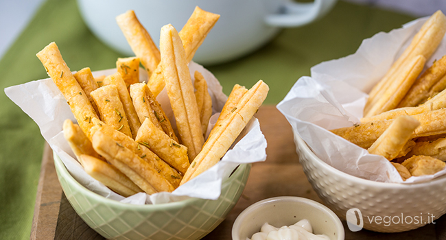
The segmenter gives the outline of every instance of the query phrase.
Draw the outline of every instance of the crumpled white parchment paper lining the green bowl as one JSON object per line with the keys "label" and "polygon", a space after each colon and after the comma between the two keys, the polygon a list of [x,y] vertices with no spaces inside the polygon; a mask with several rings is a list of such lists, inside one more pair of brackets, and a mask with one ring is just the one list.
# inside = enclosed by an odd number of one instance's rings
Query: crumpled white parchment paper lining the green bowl
{"label": "crumpled white parchment paper lining the green bowl", "polygon": [[[215,76],[194,62],[189,63],[189,70],[192,80],[193,73],[199,71],[204,79],[207,80],[209,93],[213,104],[213,117],[210,121],[211,128],[218,118],[219,112],[226,102],[226,95],[222,92],[222,86]],[[42,71],[45,69],[42,67]],[[94,76],[110,75],[116,72],[116,69],[93,72]],[[147,79],[145,71],[140,71],[140,79]],[[56,87],[56,84],[47,78],[27,82],[18,86],[5,88],[5,93],[15,104],[27,113],[38,125],[40,132],[45,140],[51,146],[51,149],[60,157],[69,173],[84,185],[87,189],[121,202],[133,204],[160,204],[165,202],[175,202],[185,200],[189,197],[200,197],[203,199],[216,200],[220,196],[222,180],[228,178],[233,169],[242,163],[255,163],[266,160],[266,139],[263,136],[259,121],[253,117],[246,125],[246,128],[239,136],[239,141],[232,149],[226,152],[226,155],[217,165],[211,167],[204,173],[189,182],[178,187],[172,193],[156,193],[147,195],[137,193],[133,196],[124,198],[117,193],[110,191],[104,184],[91,178],[82,166],[75,160],[71,148],[64,139],[62,124],[65,119],[71,119],[75,122],[73,114],[64,99],[62,93]],[[167,117],[174,123],[172,108],[170,108],[169,98],[165,90],[159,94],[157,100],[166,112]],[[175,128],[175,125],[172,124]]]}

